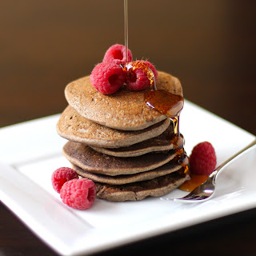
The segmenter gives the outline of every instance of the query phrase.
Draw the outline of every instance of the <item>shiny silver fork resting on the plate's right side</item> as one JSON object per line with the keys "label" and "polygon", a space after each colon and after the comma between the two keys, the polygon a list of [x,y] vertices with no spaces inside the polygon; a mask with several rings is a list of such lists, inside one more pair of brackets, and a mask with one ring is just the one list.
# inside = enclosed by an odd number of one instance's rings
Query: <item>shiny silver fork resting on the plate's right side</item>
{"label": "shiny silver fork resting on the plate's right side", "polygon": [[215,192],[215,181],[217,175],[223,170],[224,166],[228,166],[231,162],[234,162],[235,158],[238,156],[245,154],[247,151],[254,148],[256,145],[256,139],[251,142],[248,146],[238,151],[237,154],[234,154],[231,158],[227,159],[220,166],[218,166],[212,174],[210,174],[209,178],[206,179],[202,185],[196,187],[190,194],[187,194],[184,198],[174,198],[174,201],[179,202],[204,202],[212,198]]}

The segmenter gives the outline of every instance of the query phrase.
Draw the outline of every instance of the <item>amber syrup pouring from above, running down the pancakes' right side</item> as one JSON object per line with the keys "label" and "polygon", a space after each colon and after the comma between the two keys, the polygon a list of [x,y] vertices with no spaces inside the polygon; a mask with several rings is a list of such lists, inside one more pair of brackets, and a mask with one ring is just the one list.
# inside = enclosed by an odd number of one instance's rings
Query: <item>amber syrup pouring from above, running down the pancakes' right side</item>
{"label": "amber syrup pouring from above, running down the pancakes' right side", "polygon": [[[146,74],[147,78],[150,80],[150,90],[146,91],[144,94],[145,102],[148,106],[154,108],[161,114],[165,114],[174,125],[174,136],[170,139],[170,143],[174,145],[174,150],[176,151],[176,161],[182,166],[182,170],[179,172],[182,176],[185,176],[189,171],[189,158],[187,157],[184,150],[184,138],[182,134],[179,133],[179,115],[182,111],[184,99],[182,96],[177,94],[170,94],[166,90],[158,90],[156,86],[156,81],[154,77],[154,72],[143,62],[132,62],[128,63],[128,0],[124,0],[124,14],[125,14],[125,48],[126,48],[126,64],[121,65],[122,69],[126,71],[126,75],[129,79],[136,79],[136,74],[134,74],[135,69],[142,69]],[[190,183],[183,183],[180,186],[182,190],[191,190],[191,186],[194,187],[195,178],[190,178]],[[202,178],[197,178],[197,181],[201,181]]]}

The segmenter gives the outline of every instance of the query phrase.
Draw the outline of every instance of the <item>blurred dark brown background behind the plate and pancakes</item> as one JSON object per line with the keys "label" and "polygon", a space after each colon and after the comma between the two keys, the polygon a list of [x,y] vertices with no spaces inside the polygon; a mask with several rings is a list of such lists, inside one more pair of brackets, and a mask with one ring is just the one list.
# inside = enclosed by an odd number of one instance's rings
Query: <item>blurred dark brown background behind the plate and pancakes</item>
{"label": "blurred dark brown background behind the plate and pancakes", "polygon": [[[124,44],[121,0],[1,1],[0,126],[62,112],[64,88]],[[128,2],[129,47],[186,99],[255,134],[256,3]]]}

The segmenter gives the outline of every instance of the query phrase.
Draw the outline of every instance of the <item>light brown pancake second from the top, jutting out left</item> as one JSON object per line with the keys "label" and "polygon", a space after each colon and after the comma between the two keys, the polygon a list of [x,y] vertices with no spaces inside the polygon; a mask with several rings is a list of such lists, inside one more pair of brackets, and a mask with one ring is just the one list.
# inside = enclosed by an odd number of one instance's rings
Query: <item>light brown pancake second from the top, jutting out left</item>
{"label": "light brown pancake second from the top, jutting out left", "polygon": [[116,130],[83,118],[72,107],[67,106],[57,123],[57,132],[70,141],[89,146],[120,147],[130,146],[162,134],[170,126],[170,119],[147,127],[144,130]]}

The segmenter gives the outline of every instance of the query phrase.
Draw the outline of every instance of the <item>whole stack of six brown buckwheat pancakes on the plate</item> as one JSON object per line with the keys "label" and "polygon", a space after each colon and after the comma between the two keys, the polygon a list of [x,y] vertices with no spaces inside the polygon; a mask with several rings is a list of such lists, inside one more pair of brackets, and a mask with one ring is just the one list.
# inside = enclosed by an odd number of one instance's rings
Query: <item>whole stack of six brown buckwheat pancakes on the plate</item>
{"label": "whole stack of six brown buckwheat pancakes on the plate", "polygon": [[[182,95],[178,78],[158,71],[158,89]],[[144,102],[144,92],[123,86],[104,95],[90,76],[66,86],[69,103],[57,131],[69,140],[63,154],[73,169],[96,184],[97,197],[109,201],[162,196],[186,181],[177,164],[173,123]]]}

